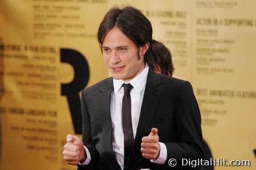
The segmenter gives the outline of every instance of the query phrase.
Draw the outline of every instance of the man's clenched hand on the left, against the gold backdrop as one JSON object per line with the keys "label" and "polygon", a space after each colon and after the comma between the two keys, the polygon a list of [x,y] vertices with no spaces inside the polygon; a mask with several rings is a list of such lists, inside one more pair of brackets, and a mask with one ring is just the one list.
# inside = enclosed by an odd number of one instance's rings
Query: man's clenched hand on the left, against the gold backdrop
{"label": "man's clenched hand on the left, against the gold backdrop", "polygon": [[79,162],[85,162],[87,155],[83,147],[83,141],[75,135],[66,136],[66,144],[64,145],[64,159],[70,165],[77,165]]}

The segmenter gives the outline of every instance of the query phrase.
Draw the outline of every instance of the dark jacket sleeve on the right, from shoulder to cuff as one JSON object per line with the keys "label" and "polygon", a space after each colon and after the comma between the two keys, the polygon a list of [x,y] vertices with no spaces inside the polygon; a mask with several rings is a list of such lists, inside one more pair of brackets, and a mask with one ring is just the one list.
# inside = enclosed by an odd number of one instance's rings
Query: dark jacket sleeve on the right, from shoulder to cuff
{"label": "dark jacket sleeve on the right, from shoulder to cuff", "polygon": [[166,167],[169,159],[177,160],[177,167],[182,166],[182,159],[197,160],[203,158],[203,137],[201,130],[201,116],[192,86],[189,82],[182,82],[179,88],[175,107],[175,122],[178,141],[165,143],[167,147]]}

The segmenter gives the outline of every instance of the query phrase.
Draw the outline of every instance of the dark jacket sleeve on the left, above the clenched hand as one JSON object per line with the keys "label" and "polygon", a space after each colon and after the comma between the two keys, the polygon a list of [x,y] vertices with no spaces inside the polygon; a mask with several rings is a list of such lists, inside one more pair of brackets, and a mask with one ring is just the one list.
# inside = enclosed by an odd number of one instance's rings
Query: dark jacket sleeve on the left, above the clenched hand
{"label": "dark jacket sleeve on the left, above the clenched hand", "polygon": [[93,139],[91,137],[91,121],[90,121],[90,115],[88,113],[87,107],[86,107],[86,100],[85,95],[86,90],[82,91],[81,96],[81,108],[82,108],[82,129],[83,129],[83,136],[82,140],[84,145],[87,147],[87,149],[90,152],[91,155],[91,161],[89,165],[78,165],[78,169],[94,169],[95,162],[98,158],[98,151],[95,148]]}

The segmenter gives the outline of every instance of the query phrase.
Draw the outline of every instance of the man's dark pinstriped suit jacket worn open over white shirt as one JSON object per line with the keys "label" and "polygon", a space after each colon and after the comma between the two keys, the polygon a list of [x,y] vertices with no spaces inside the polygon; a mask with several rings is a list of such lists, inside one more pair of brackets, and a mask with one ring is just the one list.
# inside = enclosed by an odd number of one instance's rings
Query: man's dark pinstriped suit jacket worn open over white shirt
{"label": "man's dark pinstriped suit jacket worn open over white shirt", "polygon": [[[112,151],[110,115],[113,79],[107,78],[82,92],[83,142],[91,154],[88,166],[78,169],[120,169]],[[167,147],[164,165],[141,155],[141,138],[158,128],[160,142]],[[191,84],[149,70],[135,142],[124,169],[170,168],[168,160],[203,158],[201,117]],[[184,167],[183,167],[184,168]]]}

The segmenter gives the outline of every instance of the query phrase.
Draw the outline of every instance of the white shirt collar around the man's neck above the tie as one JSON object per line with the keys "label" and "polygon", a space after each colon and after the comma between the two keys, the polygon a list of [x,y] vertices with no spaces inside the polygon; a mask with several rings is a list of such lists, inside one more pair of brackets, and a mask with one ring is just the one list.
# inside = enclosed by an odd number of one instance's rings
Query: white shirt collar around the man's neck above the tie
{"label": "white shirt collar around the man's neck above the tie", "polygon": [[113,79],[115,94],[117,93],[117,91],[120,90],[121,86],[124,83],[132,84],[133,90],[141,93],[143,88],[146,86],[146,78],[148,76],[148,71],[149,71],[149,67],[148,67],[148,64],[146,64],[145,68],[141,71],[141,73],[138,74],[135,78],[131,79],[129,82],[124,82],[124,80],[121,80],[121,79],[119,79],[119,80]]}

